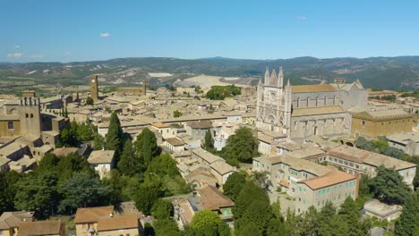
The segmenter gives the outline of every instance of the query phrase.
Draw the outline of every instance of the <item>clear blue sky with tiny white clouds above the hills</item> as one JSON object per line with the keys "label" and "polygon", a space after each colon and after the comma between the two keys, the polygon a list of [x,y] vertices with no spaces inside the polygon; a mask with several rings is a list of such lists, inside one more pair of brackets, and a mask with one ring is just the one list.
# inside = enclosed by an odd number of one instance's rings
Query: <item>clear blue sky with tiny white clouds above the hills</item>
{"label": "clear blue sky with tiny white clouds above the hills", "polygon": [[419,1],[0,0],[0,62],[419,55]]}

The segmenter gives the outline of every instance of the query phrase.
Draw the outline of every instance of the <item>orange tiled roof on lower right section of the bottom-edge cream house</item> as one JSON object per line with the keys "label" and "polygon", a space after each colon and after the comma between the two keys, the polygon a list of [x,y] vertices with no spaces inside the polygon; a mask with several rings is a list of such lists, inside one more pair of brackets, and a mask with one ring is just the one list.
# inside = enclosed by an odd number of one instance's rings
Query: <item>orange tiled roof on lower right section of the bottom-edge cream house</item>
{"label": "orange tiled roof on lower right section of the bottom-edge cream house", "polygon": [[114,217],[100,218],[98,220],[98,232],[124,229],[138,229],[138,216],[117,215]]}

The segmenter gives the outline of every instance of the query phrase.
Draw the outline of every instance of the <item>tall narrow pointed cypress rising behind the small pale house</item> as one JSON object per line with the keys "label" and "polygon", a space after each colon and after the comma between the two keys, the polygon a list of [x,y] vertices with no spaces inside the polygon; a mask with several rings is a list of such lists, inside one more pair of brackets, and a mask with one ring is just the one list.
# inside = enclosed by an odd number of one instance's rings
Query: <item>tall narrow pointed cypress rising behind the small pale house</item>
{"label": "tall narrow pointed cypress rising behind the small pale house", "polygon": [[115,150],[116,163],[119,161],[124,142],[124,131],[121,128],[118,114],[113,113],[110,117],[109,128],[107,130],[106,149]]}

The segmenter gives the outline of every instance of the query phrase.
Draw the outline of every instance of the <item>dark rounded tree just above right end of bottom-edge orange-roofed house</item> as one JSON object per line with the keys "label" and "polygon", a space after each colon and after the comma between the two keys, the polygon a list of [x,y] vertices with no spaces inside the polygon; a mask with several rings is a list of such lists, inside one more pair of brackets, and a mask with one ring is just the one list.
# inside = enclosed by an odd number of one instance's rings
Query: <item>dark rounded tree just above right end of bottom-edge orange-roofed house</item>
{"label": "dark rounded tree just above right end of bottom-edge orange-roofed house", "polygon": [[151,207],[158,200],[158,189],[154,187],[141,186],[135,196],[135,206],[144,215],[151,214]]}

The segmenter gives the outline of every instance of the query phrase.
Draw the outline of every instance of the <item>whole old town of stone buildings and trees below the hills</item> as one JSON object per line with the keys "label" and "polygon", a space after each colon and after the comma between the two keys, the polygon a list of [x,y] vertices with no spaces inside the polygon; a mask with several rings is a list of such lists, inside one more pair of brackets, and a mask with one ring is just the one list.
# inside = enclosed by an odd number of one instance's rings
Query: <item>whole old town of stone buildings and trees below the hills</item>
{"label": "whole old town of stone buildings and trees below the hills", "polygon": [[282,67],[242,87],[99,79],[1,97],[0,235],[418,230],[415,92],[292,85]]}

